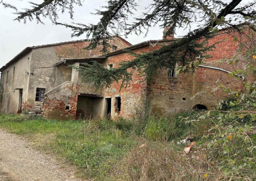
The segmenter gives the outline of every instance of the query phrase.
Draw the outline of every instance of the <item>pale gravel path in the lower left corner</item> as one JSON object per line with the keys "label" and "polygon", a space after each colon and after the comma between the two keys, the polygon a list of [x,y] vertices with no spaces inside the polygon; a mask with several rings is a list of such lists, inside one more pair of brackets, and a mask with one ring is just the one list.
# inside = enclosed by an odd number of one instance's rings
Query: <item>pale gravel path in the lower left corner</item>
{"label": "pale gravel path in the lower left corner", "polygon": [[31,148],[24,138],[0,129],[1,181],[81,181],[72,166]]}

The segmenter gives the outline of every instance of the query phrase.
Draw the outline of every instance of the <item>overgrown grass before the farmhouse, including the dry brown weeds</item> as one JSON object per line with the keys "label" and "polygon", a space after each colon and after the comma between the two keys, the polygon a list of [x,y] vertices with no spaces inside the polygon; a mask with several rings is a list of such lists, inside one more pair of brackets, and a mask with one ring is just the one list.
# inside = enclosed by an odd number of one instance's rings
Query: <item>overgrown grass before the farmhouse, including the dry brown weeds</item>
{"label": "overgrown grass before the farmhouse, including the dry brown weeds", "polygon": [[86,179],[200,180],[209,169],[204,153],[197,158],[185,155],[184,145],[176,144],[202,126],[185,124],[182,118],[192,114],[151,115],[140,121],[138,117],[60,121],[1,114],[0,127],[67,159]]}

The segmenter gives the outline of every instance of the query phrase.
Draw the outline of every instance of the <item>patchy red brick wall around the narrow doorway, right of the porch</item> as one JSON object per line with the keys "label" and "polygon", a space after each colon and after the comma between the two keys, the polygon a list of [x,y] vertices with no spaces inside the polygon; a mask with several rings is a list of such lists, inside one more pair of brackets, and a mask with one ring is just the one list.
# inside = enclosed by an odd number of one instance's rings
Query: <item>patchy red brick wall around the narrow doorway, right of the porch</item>
{"label": "patchy red brick wall around the narrow doorway, right of the porch", "polygon": [[[137,48],[135,53],[149,52],[152,48],[149,46]],[[107,66],[113,63],[113,68],[117,68],[120,62],[131,61],[134,59],[130,53],[120,53],[113,56],[108,57],[107,61],[104,64]],[[114,82],[109,88],[105,88],[104,96],[108,96],[112,98],[112,116],[123,116],[129,117],[136,113],[137,109],[142,109],[142,104],[145,102],[146,92],[147,92],[147,82],[142,81],[143,77],[141,77],[137,71],[134,71],[132,75],[131,84],[126,88],[123,87],[120,91],[121,81]],[[116,102],[115,97],[121,97],[121,110],[120,112],[116,112]]]}

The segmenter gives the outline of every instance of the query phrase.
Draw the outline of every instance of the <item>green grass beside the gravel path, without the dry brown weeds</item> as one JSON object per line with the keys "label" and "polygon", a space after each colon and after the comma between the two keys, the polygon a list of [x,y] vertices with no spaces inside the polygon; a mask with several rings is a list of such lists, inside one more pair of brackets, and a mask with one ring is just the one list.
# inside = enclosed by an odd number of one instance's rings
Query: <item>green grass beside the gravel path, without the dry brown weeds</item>
{"label": "green grass beside the gravel path, without the dry brown weeds", "polygon": [[130,180],[133,176],[129,174],[139,173],[137,168],[131,171],[127,167],[128,158],[137,147],[148,143],[147,146],[153,145],[151,148],[162,148],[162,141],[182,137],[184,127],[185,124],[157,116],[144,121],[141,118],[60,121],[26,113],[0,115],[0,128],[28,138],[37,149],[56,153],[76,165],[80,176],[95,180]]}

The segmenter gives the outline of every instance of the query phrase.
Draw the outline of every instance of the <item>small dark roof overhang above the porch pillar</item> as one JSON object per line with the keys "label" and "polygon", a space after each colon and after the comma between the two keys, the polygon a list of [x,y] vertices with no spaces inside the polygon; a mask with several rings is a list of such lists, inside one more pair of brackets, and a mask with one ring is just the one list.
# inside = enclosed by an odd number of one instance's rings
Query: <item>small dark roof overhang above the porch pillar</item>
{"label": "small dark roof overhang above the porch pillar", "polygon": [[89,58],[75,58],[75,59],[64,59],[60,62],[57,62],[55,65],[69,65],[73,63],[86,63],[91,61],[97,61],[99,63],[104,62],[107,57],[89,57]]}

